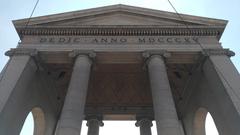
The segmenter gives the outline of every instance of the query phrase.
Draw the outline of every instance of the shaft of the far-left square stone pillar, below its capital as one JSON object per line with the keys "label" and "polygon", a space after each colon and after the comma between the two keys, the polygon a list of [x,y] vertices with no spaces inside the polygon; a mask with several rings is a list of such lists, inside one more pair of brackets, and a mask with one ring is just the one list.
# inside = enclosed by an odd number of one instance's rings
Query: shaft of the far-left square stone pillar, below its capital
{"label": "shaft of the far-left square stone pillar, below its capital", "polygon": [[[37,67],[28,55],[18,55],[11,57],[8,65],[2,73],[0,80],[0,134],[18,134],[21,127],[9,130],[9,122],[14,120],[11,111],[15,111],[12,106],[13,100],[22,101],[27,88],[34,78]],[[14,98],[13,97],[17,97]],[[20,112],[20,110],[17,110]],[[21,125],[20,119],[15,119],[15,125]],[[13,123],[12,123],[13,124]]]}

